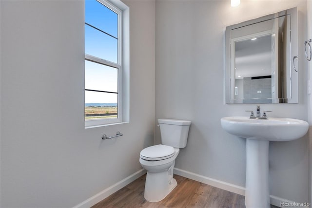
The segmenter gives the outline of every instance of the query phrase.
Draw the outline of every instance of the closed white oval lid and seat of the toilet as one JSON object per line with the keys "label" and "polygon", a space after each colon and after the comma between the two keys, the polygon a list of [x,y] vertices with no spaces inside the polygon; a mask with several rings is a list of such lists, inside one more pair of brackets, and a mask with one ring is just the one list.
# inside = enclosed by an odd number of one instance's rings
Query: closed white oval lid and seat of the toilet
{"label": "closed white oval lid and seat of the toilet", "polygon": [[167,145],[154,145],[143,149],[140,157],[144,160],[164,160],[175,154],[175,149]]}

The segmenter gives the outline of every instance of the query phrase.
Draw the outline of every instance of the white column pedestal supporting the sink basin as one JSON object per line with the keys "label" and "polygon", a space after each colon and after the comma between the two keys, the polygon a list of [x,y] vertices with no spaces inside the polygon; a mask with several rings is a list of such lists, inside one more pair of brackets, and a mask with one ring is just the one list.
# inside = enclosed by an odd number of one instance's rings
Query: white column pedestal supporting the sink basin
{"label": "white column pedestal supporting the sink basin", "polygon": [[270,208],[269,142],[246,139],[246,208]]}

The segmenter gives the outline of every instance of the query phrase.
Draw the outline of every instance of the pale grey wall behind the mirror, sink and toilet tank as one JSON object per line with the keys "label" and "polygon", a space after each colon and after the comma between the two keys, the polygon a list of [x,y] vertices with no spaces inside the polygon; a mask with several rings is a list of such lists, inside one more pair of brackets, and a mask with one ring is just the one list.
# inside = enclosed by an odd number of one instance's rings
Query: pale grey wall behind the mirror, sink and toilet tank
{"label": "pale grey wall behind the mirror, sink and toilet tank", "polygon": [[[176,168],[245,187],[245,140],[222,130],[220,118],[249,114],[255,104],[224,104],[225,27],[298,6],[299,57],[306,36],[306,1],[156,1],[156,119],[192,120]],[[299,104],[262,104],[272,117],[307,120],[306,62],[299,58]],[[156,142],[160,141],[156,129]],[[308,201],[308,138],[270,144],[270,192]]]}

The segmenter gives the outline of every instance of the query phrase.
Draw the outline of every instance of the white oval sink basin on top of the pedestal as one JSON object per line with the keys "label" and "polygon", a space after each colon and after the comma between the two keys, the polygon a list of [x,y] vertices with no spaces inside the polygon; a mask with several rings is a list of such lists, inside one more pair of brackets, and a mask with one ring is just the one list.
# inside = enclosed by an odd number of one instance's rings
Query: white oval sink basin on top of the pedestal
{"label": "white oval sink basin on top of the pedestal", "polygon": [[308,132],[306,121],[292,118],[250,119],[249,117],[221,118],[222,128],[243,138],[291,141],[301,138]]}

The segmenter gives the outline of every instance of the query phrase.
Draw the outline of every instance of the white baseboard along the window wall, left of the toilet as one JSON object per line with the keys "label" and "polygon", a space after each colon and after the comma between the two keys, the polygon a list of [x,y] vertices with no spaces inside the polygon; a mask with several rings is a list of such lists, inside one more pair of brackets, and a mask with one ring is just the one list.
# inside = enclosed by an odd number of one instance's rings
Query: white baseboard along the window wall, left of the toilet
{"label": "white baseboard along the window wall, left of the toilet", "polygon": [[108,187],[107,189],[102,190],[98,194],[90,197],[89,199],[81,202],[80,204],[76,205],[74,208],[90,208],[93,205],[97,204],[98,202],[102,201],[106,197],[110,196],[111,194],[115,193],[117,190],[127,186],[140,176],[144,175],[146,173],[146,170],[141,169],[137,172],[133,173],[132,175],[122,179],[118,183]]}

